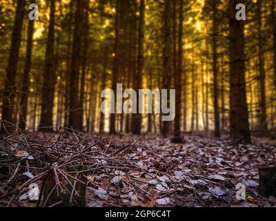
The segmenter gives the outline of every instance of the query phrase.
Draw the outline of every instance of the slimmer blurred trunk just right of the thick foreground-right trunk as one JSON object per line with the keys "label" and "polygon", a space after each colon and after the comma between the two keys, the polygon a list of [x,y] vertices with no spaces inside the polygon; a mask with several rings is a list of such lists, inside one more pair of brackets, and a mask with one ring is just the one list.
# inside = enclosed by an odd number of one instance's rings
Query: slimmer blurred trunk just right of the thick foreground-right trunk
{"label": "slimmer blurred trunk just right of the thick foreground-right trunk", "polygon": [[258,54],[259,54],[259,85],[261,89],[261,116],[259,119],[259,130],[267,131],[266,116],[266,71],[264,70],[264,37],[262,34],[262,0],[257,1],[257,21],[258,21]]}

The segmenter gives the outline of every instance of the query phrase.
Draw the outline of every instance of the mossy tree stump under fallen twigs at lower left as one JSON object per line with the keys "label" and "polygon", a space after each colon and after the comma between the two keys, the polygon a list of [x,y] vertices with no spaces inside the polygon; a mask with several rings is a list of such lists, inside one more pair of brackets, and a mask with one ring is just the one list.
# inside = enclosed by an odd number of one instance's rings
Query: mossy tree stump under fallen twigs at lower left
{"label": "mossy tree stump under fallen twigs at lower left", "polygon": [[66,173],[70,176],[66,177],[51,169],[44,180],[39,206],[85,207],[87,179],[81,171],[86,169],[86,166],[68,166]]}

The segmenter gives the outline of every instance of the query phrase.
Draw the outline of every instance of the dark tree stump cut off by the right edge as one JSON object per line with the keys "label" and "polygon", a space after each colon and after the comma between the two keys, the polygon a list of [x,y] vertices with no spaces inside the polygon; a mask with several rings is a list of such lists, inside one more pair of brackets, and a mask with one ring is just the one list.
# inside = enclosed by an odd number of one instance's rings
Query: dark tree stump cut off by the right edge
{"label": "dark tree stump cut off by the right edge", "polygon": [[259,168],[259,193],[276,197],[276,166]]}

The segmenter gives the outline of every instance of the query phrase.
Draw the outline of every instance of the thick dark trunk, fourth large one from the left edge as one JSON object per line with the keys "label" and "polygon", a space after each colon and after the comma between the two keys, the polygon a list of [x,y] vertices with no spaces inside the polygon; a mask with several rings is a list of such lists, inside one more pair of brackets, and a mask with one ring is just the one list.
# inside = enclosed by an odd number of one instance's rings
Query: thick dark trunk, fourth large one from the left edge
{"label": "thick dark trunk, fourth large one from the left edge", "polygon": [[75,30],[72,46],[72,67],[70,75],[70,113],[69,128],[77,131],[82,130],[81,102],[79,99],[79,77],[81,69],[83,43],[83,17],[84,1],[77,1],[77,10],[75,12]]}

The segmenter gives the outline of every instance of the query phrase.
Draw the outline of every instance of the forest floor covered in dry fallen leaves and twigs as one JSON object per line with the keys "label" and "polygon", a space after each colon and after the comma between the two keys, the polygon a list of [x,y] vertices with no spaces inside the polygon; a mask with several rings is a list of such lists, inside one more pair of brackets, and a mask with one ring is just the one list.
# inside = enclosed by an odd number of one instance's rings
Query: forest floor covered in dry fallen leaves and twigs
{"label": "forest floor covered in dry fallen leaves and twigs", "polygon": [[[258,168],[276,164],[275,140],[253,137],[253,144],[235,145],[226,137],[184,139],[172,144],[157,135],[68,132],[1,137],[0,206],[37,206],[41,199],[28,195],[29,185],[42,191],[54,171],[52,193],[60,191],[74,178],[66,171],[70,165],[86,166],[88,207],[276,206],[276,198],[258,193]],[[246,187],[246,200],[237,200],[237,184]]]}

